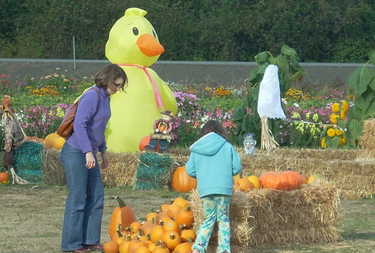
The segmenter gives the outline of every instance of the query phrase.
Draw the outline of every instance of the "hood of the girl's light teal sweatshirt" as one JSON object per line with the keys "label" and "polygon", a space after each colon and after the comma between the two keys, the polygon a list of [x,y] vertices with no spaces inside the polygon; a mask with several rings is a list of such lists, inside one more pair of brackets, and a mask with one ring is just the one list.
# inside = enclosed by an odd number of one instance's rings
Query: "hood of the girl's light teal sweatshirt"
{"label": "hood of the girl's light teal sweatshirt", "polygon": [[203,156],[214,156],[226,140],[217,133],[211,132],[194,142],[190,150]]}

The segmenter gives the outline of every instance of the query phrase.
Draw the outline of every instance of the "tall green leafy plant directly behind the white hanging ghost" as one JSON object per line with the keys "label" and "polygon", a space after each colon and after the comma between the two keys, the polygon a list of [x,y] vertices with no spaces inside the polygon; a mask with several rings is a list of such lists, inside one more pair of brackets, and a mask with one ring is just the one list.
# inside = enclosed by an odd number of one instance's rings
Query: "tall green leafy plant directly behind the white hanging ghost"
{"label": "tall green leafy plant directly behind the white hanging ghost", "polygon": [[[302,79],[302,76],[307,74],[300,66],[297,52],[288,45],[283,45],[281,54],[276,57],[268,51],[261,52],[255,56],[255,62],[258,68],[250,73],[248,93],[243,97],[242,104],[237,107],[233,116],[233,121],[237,124],[236,135],[239,145],[242,145],[245,133],[255,133],[255,138],[260,143],[261,124],[257,112],[258,96],[260,82],[268,65],[276,65],[279,69],[281,97],[285,96],[293,82]],[[269,129],[274,132],[273,130],[278,127],[275,120],[269,120],[268,123]]]}

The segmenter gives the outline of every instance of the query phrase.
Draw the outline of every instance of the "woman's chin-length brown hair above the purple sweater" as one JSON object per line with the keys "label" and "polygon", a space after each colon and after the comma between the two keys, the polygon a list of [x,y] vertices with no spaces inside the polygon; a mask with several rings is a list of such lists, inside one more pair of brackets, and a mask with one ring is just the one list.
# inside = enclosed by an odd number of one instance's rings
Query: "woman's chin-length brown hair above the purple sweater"
{"label": "woman's chin-length brown hair above the purple sweater", "polygon": [[107,89],[114,85],[113,83],[117,78],[122,78],[124,80],[124,84],[121,87],[121,90],[124,91],[124,88],[127,87],[125,71],[117,64],[108,64],[95,75],[95,84],[100,88]]}

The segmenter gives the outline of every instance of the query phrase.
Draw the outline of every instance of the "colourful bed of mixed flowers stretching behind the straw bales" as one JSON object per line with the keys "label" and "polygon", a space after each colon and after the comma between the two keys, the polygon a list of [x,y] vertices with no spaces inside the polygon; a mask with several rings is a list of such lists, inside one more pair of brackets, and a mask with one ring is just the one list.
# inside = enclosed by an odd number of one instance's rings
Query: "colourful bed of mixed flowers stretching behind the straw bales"
{"label": "colourful bed of mixed flowers stretching behind the straw bales", "polygon": [[[67,106],[85,88],[94,84],[92,76],[78,80],[64,72],[57,72],[60,69],[56,68],[56,73],[51,75],[12,84],[7,81],[9,76],[3,74],[0,77],[1,94],[12,96],[17,119],[26,129],[27,135],[43,138],[55,132]],[[172,131],[175,141],[171,145],[191,145],[199,138],[199,130],[203,124],[211,119],[219,120],[228,130],[229,141],[234,145],[238,144],[236,131],[239,129],[233,122],[233,116],[247,93],[247,87],[181,85],[173,82],[168,85],[178,104]],[[282,99],[288,121],[277,120],[278,128],[273,129],[276,141],[282,147],[319,148],[324,137],[321,138],[320,134],[324,132],[325,124],[332,123],[332,114],[335,113],[332,112],[332,106],[342,100],[347,100],[350,108],[353,105],[353,94],[330,87],[318,87],[305,93],[291,88]],[[338,126],[334,128],[337,130]],[[2,125],[1,129],[3,131]],[[0,148],[2,149],[2,144]]]}

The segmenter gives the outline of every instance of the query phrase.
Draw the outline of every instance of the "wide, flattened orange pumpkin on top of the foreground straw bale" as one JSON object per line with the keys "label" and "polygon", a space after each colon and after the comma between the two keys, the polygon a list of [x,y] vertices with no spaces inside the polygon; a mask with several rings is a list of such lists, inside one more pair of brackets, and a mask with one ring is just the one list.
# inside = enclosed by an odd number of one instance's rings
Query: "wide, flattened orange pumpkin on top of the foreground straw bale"
{"label": "wide, flattened orange pumpkin on top of the foreground straw bale", "polygon": [[265,172],[259,180],[263,188],[275,190],[300,189],[302,185],[302,178],[292,171]]}

